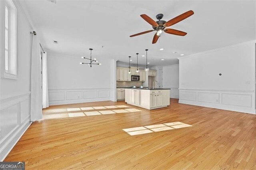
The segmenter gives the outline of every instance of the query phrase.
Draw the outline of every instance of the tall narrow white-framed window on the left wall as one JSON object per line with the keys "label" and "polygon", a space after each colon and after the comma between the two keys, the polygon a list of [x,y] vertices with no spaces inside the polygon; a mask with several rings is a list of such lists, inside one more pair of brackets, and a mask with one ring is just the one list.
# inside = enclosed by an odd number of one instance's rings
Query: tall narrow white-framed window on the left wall
{"label": "tall narrow white-framed window on the left wall", "polygon": [[5,71],[4,77],[17,79],[16,65],[16,7],[11,0],[5,6]]}

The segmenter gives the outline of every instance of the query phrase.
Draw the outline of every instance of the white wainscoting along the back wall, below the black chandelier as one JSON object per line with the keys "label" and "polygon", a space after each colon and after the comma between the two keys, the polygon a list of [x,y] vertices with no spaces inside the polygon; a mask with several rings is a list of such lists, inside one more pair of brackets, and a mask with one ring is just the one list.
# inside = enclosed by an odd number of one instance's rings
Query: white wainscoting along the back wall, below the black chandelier
{"label": "white wainscoting along the back wall, below the black chandelier", "polygon": [[49,105],[108,101],[110,92],[114,93],[113,89],[49,89],[48,91]]}

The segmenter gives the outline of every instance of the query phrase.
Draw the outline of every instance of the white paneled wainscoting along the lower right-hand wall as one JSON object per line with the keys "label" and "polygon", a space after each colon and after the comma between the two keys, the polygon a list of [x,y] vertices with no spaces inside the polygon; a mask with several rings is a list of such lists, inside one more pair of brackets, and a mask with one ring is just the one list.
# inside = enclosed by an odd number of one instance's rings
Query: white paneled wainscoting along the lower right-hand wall
{"label": "white paneled wainscoting along the lower right-hand wall", "polygon": [[179,103],[256,114],[254,91],[203,89],[179,89],[179,91]]}

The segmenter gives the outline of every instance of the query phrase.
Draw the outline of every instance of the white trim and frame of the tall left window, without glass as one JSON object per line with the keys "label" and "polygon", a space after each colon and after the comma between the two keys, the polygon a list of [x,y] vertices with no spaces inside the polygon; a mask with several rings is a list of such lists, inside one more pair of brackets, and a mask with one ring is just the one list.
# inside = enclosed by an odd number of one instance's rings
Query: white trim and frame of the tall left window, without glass
{"label": "white trim and frame of the tall left window, without glass", "polygon": [[[8,73],[6,72],[6,69],[5,69],[5,62],[4,62],[4,75],[2,77],[4,78],[7,78],[7,79],[15,79],[15,80],[18,80],[18,65],[17,65],[17,8],[14,4],[14,2],[12,2],[12,0],[10,1],[12,4],[13,4],[13,7],[14,7],[14,10],[15,10],[15,21],[11,21],[11,22],[15,22],[15,27],[14,27],[14,39],[15,39],[15,45],[14,45],[14,49],[15,49],[15,53],[14,53],[14,57],[15,57],[15,72],[16,74],[12,74],[12,73]],[[10,37],[10,6],[8,6],[8,4],[6,4],[7,8],[8,8],[8,36]],[[4,8],[5,9],[5,8]],[[4,34],[5,36],[5,34]],[[8,43],[10,44],[10,38],[8,40]],[[10,55],[10,46],[8,45],[8,55]],[[9,62],[10,62],[10,58],[8,58]],[[9,70],[10,70],[10,64],[9,64]]]}

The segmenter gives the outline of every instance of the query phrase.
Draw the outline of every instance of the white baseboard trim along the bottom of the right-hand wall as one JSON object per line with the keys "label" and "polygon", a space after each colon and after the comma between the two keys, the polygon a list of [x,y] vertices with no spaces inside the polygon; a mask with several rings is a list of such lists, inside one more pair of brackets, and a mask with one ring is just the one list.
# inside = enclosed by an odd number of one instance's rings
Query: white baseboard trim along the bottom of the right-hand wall
{"label": "white baseboard trim along the bottom of the right-hand wall", "polygon": [[210,107],[210,108],[214,108],[214,109],[242,112],[242,113],[250,113],[250,114],[256,115],[255,109],[251,109],[251,108],[238,108],[238,107],[231,108],[231,107],[220,105],[220,104],[214,105],[214,104],[208,104],[208,103],[200,103],[200,102],[196,102],[196,101],[187,101],[187,100],[182,100],[182,99],[179,100],[179,103],[186,104],[186,105],[196,105],[196,106],[201,106],[201,107]]}

